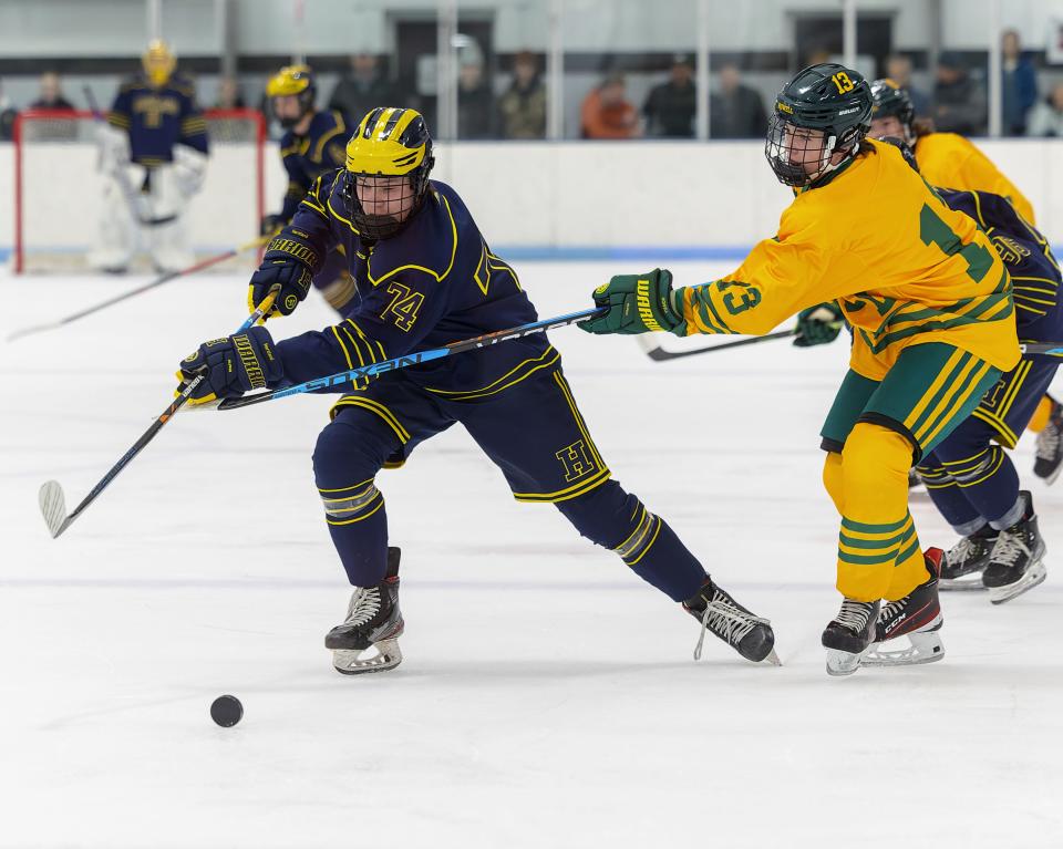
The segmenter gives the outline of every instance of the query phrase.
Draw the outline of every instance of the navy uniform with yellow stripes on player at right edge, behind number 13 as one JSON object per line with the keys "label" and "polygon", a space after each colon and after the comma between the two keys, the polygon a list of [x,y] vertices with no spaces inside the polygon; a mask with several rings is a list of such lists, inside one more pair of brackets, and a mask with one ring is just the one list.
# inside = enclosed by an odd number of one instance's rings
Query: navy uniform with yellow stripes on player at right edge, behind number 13
{"label": "navy uniform with yellow stripes on player at right edge, behind number 13", "polygon": [[[1007,266],[1014,287],[1015,324],[1024,342],[1063,338],[1060,267],[1047,240],[1012,206],[985,191],[939,189],[952,209],[976,220]],[[1022,518],[1019,475],[1003,451],[1019,435],[1044,397],[1059,361],[1024,356],[982,398],[971,416],[917,467],[941,515],[969,537],[987,524],[997,530]]]}

